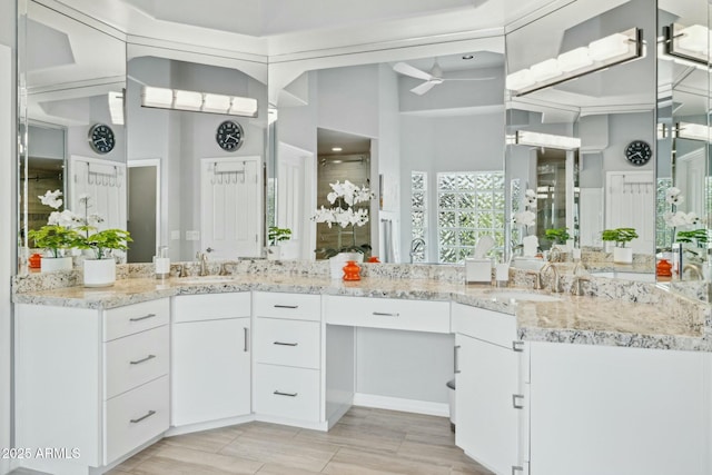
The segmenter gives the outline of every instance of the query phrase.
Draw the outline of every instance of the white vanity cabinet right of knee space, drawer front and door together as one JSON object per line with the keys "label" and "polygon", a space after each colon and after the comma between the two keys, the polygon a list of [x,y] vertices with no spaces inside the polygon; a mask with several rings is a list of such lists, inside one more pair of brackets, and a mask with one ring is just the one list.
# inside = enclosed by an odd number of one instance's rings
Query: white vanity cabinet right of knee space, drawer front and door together
{"label": "white vanity cabinet right of knee space, drawer front and door together", "polygon": [[452,326],[455,443],[496,474],[523,473],[526,387],[515,317],[453,304]]}

